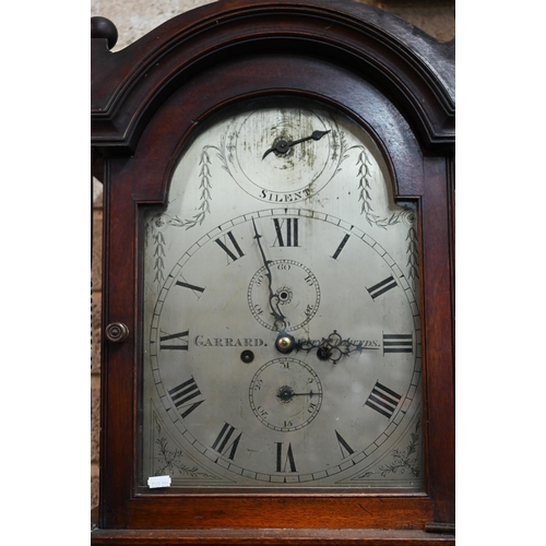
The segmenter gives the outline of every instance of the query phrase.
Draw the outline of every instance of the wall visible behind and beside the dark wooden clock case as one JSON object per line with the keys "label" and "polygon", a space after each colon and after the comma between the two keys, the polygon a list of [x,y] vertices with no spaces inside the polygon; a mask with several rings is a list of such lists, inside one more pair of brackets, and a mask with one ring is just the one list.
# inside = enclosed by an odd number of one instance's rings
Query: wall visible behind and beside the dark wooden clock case
{"label": "wall visible behind and beside the dark wooden clock case", "polygon": [[[358,1],[394,13],[441,41],[448,41],[455,35],[454,0]],[[91,15],[102,15],[116,25],[118,43],[112,51],[118,51],[175,15],[206,3],[213,2],[211,0],[92,0]],[[95,181],[92,262],[91,508],[98,503],[102,195],[102,183]]]}

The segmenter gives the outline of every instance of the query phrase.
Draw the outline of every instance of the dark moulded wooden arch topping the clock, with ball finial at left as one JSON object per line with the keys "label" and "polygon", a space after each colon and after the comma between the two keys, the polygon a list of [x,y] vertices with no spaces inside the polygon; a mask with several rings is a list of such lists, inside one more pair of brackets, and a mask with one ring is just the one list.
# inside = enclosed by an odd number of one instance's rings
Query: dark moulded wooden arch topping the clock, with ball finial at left
{"label": "dark moulded wooden arch topping the clock, with ball finial at left", "polygon": [[425,147],[453,143],[454,40],[440,43],[370,5],[221,0],[111,52],[116,36],[112,23],[92,19],[93,145],[109,154],[134,150],[157,105],[194,74],[282,54],[330,60],[372,82],[404,112]]}

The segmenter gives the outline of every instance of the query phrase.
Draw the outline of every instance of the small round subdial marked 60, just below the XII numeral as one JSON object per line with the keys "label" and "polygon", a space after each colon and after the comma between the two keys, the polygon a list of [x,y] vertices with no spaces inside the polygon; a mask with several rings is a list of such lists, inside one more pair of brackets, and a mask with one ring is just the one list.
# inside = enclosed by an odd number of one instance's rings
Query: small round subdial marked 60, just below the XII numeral
{"label": "small round subdial marked 60, just below the XII numeral", "polygon": [[[250,311],[260,324],[269,330],[289,332],[314,317],[320,305],[320,287],[309,268],[294,260],[273,260],[269,262],[269,271],[262,266],[254,273],[247,297]],[[273,313],[272,309],[278,312]],[[283,320],[277,319],[281,314]]]}

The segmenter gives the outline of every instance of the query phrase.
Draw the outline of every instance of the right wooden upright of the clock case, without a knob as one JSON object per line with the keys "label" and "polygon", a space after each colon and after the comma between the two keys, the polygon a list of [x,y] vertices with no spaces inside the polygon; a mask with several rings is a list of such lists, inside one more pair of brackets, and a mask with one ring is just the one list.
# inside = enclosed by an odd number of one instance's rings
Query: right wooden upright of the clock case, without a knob
{"label": "right wooden upright of the clock case, without a knob", "polygon": [[455,403],[453,361],[453,229],[449,162],[425,161],[423,260],[428,490],[435,522],[454,523]]}

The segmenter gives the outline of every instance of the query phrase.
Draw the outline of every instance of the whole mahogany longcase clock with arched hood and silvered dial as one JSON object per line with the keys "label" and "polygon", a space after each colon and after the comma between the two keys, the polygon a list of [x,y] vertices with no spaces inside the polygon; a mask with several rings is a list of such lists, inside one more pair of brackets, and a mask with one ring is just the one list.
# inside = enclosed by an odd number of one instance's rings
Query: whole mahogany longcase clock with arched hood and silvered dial
{"label": "whole mahogany longcase clock with arched hood and silvered dial", "polygon": [[116,34],[92,544],[453,543],[453,44],[319,0]]}

